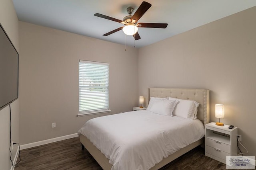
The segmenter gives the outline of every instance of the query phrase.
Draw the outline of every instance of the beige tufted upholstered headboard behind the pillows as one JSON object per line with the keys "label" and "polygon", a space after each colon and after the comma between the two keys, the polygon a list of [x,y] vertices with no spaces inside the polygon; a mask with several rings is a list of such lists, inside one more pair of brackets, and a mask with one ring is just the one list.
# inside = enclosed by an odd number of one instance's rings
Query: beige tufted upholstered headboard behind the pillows
{"label": "beige tufted upholstered headboard behind the pillows", "polygon": [[204,123],[204,126],[210,122],[209,90],[194,88],[148,88],[146,104],[148,104],[150,97],[172,97],[184,100],[194,100],[200,103],[198,106],[197,118]]}

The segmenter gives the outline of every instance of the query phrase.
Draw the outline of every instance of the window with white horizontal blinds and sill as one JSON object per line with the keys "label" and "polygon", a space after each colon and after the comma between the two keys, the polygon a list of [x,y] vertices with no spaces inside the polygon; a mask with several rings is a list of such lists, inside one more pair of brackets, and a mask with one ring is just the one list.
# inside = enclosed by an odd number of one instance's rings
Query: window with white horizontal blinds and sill
{"label": "window with white horizontal blinds and sill", "polygon": [[108,112],[108,63],[79,60],[79,115]]}

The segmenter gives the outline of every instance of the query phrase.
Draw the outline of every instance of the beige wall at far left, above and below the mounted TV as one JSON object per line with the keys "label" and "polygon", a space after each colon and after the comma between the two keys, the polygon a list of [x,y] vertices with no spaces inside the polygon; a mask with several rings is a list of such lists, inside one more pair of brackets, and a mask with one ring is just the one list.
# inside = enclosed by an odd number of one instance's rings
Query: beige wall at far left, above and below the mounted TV
{"label": "beige wall at far left, above and below the mounted TV", "polygon": [[[12,41],[16,50],[19,50],[18,41],[18,18],[12,4],[12,0],[0,0],[0,23],[4,27],[10,40]],[[12,109],[12,141],[19,142],[18,126],[19,126],[19,100],[11,104]],[[10,111],[9,106],[6,106],[0,111],[0,169],[8,170],[12,167],[10,162]],[[18,146],[14,146],[12,150],[12,160],[16,154]]]}

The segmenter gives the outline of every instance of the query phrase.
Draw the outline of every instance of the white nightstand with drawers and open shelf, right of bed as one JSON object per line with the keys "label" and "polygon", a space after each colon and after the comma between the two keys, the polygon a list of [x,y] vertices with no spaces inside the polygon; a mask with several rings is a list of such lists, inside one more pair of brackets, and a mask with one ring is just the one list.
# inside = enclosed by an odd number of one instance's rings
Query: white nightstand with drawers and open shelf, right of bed
{"label": "white nightstand with drawers and open shelf, right of bed", "polygon": [[226,164],[226,156],[237,156],[237,127],[205,125],[205,155]]}

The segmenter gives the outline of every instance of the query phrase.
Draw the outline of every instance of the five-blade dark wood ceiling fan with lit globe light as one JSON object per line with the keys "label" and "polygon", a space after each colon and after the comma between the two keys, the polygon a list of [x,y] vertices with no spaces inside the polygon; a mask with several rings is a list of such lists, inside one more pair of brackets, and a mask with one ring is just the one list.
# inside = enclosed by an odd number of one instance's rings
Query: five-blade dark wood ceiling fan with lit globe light
{"label": "five-blade dark wood ceiling fan with lit globe light", "polygon": [[128,16],[125,16],[123,20],[118,20],[116,18],[112,18],[109,16],[105,16],[99,13],[94,14],[94,16],[105,18],[107,20],[116,21],[119,23],[124,24],[125,26],[119,27],[117,29],[114,29],[113,31],[110,31],[108,33],[105,33],[103,36],[108,36],[112,33],[115,33],[117,31],[120,31],[121,29],[124,31],[126,35],[133,35],[135,40],[140,39],[140,35],[138,33],[138,27],[147,27],[147,28],[166,28],[167,23],[138,23],[138,20],[146,13],[146,11],[151,7],[151,4],[148,2],[143,1],[142,4],[139,6],[138,10],[134,13],[132,16],[132,13],[134,11],[134,8],[128,7],[127,12]]}

